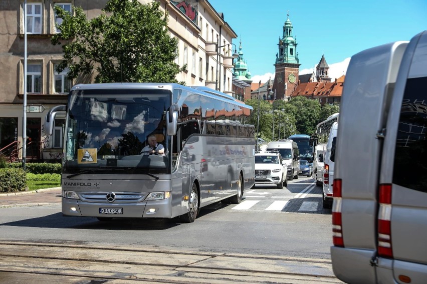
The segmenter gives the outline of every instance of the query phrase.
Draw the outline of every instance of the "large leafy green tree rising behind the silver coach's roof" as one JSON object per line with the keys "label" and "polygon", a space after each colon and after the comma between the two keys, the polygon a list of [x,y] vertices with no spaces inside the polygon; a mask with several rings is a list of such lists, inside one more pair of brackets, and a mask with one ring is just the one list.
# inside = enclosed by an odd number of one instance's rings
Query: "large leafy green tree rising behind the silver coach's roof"
{"label": "large leafy green tree rising behind the silver coach's roof", "polygon": [[178,40],[169,35],[159,5],[108,0],[103,13],[90,20],[81,7],[74,6],[71,15],[55,6],[63,21],[51,42],[63,44],[64,52],[56,70],[68,67],[67,76],[76,78],[95,69],[95,82],[177,82],[175,75],[186,66],[174,62]]}

